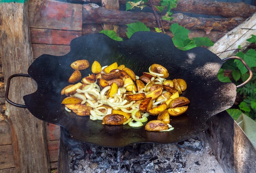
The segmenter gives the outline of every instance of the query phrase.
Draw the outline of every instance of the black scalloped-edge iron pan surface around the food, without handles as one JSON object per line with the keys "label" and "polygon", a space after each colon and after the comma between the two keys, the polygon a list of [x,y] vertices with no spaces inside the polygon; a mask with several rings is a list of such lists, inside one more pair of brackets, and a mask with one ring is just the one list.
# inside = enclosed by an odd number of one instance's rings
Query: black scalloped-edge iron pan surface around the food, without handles
{"label": "black scalloped-edge iron pan surface around the food, without handles", "polygon": [[[102,66],[117,63],[141,75],[154,63],[168,69],[168,79],[182,78],[187,90],[182,94],[190,100],[188,110],[181,116],[171,117],[175,128],[168,132],[145,131],[144,127],[102,125],[89,116],[76,116],[64,109],[61,90],[74,71],[70,64],[78,59],[94,60]],[[230,108],[236,98],[236,85],[222,83],[217,74],[222,60],[204,48],[182,51],[175,48],[171,37],[153,32],[137,32],[123,42],[104,34],[77,37],[70,44],[70,53],[64,56],[41,55],[29,67],[28,74],[38,89],[24,96],[25,105],[37,118],[63,126],[74,140],[106,147],[124,147],[132,143],[175,143],[194,137],[206,129],[206,121],[213,115]],[[82,76],[91,74],[90,68]]]}

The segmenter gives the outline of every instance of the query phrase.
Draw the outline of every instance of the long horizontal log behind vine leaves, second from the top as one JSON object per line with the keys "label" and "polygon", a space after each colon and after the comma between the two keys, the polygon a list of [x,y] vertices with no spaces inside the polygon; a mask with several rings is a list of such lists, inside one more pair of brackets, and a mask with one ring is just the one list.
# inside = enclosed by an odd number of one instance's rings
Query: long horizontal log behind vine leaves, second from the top
{"label": "long horizontal log behind vine leaves, second from the top", "polygon": [[[172,21],[162,21],[164,29],[169,29],[173,23],[178,23],[187,29],[204,29],[207,33],[213,31],[230,31],[243,22],[243,18],[192,18],[182,13],[173,14]],[[146,26],[157,27],[153,13],[116,11],[104,9],[95,4],[83,5],[83,24],[108,23],[108,24],[130,24],[133,22],[142,22]]]}

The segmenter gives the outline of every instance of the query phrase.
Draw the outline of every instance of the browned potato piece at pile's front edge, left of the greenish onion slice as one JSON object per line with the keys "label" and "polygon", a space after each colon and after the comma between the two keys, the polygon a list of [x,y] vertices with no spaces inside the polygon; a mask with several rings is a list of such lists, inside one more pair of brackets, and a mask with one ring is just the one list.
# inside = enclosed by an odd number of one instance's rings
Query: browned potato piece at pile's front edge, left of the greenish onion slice
{"label": "browned potato piece at pile's front edge, left of the greenish onion slice", "polygon": [[120,114],[108,114],[103,117],[102,124],[106,125],[122,125],[127,121],[127,118],[124,115]]}

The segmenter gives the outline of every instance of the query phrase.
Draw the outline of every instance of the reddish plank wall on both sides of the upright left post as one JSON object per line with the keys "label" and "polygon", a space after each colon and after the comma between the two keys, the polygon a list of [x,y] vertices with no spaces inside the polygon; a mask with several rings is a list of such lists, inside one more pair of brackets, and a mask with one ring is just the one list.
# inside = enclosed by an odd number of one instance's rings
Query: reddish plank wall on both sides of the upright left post
{"label": "reddish plank wall on both sides of the upright left post", "polygon": [[[33,55],[61,56],[70,51],[70,41],[82,35],[82,5],[54,0],[29,0],[29,27]],[[0,63],[1,64],[1,63]],[[4,79],[0,68],[0,173],[14,173],[15,164],[10,127],[4,116]],[[45,123],[50,167],[58,164],[58,125]]]}

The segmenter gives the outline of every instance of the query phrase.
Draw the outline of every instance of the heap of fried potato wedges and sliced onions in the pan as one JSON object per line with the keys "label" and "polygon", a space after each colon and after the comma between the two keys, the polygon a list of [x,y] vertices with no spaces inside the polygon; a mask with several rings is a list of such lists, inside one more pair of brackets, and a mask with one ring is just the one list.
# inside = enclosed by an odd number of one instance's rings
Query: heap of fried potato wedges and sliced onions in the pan
{"label": "heap of fried potato wedges and sliced onions in the pan", "polygon": [[[152,64],[148,72],[137,76],[123,64],[102,67],[94,61],[92,74],[83,78],[80,70],[90,67],[88,60],[77,60],[70,66],[74,72],[68,82],[75,84],[61,90],[67,96],[62,101],[67,112],[102,120],[105,125],[141,127],[146,123],[147,131],[171,131],[170,116],[188,109],[189,99],[180,96],[187,88],[186,81],[166,79],[169,73],[162,65]],[[156,118],[148,122],[150,115]]]}

